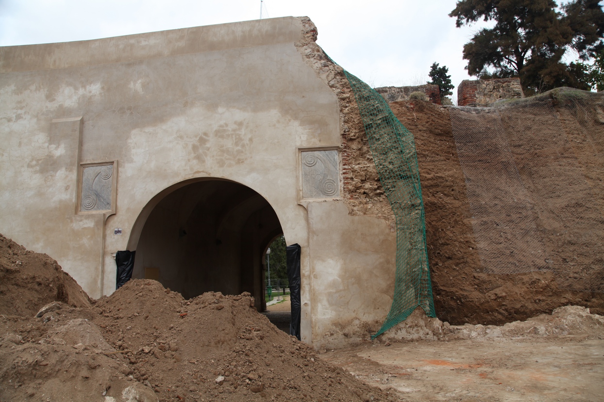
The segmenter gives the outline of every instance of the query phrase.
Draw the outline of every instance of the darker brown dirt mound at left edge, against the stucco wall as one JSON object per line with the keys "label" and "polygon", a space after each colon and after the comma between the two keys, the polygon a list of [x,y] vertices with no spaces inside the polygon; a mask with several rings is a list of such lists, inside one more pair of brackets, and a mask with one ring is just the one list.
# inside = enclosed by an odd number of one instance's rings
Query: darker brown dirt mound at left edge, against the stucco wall
{"label": "darker brown dirt mound at left edge, against the stucco wall", "polygon": [[0,314],[33,316],[53,301],[91,305],[86,292],[57,261],[0,235]]}

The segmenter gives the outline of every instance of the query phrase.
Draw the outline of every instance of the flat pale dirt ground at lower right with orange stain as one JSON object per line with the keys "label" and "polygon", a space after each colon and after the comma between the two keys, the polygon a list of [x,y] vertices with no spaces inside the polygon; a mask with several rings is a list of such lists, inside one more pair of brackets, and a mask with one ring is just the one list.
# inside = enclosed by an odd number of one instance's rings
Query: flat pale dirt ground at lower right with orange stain
{"label": "flat pale dirt ground at lower right with orange stain", "polygon": [[405,401],[603,401],[604,341],[498,339],[393,343],[321,355]]}

